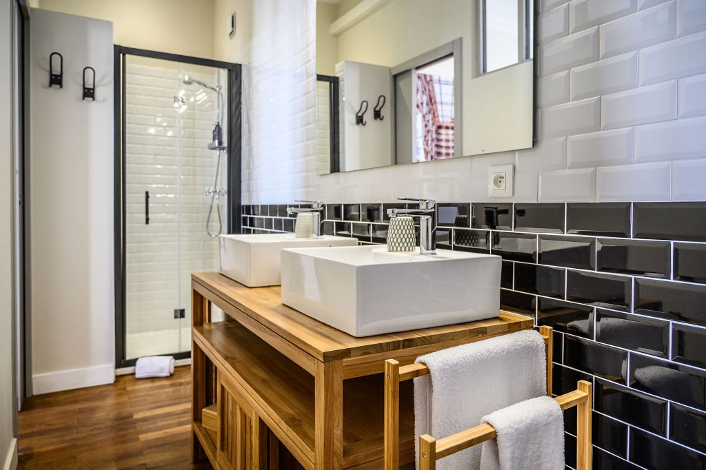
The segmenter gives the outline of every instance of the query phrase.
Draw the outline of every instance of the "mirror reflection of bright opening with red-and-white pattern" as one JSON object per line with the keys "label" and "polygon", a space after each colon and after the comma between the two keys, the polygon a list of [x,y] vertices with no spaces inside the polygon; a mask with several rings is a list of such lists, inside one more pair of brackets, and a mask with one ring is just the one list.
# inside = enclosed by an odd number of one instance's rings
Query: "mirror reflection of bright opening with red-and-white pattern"
{"label": "mirror reflection of bright opening with red-and-white pattern", "polygon": [[453,56],[448,56],[414,71],[417,83],[413,162],[454,156],[453,68]]}

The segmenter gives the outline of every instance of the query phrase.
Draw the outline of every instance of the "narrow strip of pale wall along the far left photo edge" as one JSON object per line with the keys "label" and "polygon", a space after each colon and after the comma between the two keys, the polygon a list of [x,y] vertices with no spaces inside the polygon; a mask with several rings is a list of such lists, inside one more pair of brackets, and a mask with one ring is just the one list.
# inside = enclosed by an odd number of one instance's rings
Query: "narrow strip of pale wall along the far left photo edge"
{"label": "narrow strip of pale wall along the far left photo edge", "polygon": [[12,16],[0,1],[0,468],[17,466],[13,407]]}

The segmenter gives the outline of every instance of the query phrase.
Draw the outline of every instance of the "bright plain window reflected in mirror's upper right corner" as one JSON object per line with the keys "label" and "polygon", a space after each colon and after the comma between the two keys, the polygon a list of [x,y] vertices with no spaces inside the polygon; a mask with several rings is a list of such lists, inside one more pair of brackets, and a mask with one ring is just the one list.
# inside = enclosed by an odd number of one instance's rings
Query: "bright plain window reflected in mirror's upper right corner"
{"label": "bright plain window reflected in mirror's upper right corner", "polygon": [[532,0],[481,0],[479,7],[482,73],[532,59]]}

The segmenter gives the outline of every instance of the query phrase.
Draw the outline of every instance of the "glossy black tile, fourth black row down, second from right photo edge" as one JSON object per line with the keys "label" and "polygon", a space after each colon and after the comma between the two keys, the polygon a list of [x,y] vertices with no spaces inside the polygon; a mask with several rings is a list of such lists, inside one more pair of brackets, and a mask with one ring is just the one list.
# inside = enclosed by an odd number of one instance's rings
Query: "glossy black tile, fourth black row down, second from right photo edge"
{"label": "glossy black tile, fourth black row down, second from right photo edge", "polygon": [[669,354],[669,323],[598,308],[596,341],[666,357]]}

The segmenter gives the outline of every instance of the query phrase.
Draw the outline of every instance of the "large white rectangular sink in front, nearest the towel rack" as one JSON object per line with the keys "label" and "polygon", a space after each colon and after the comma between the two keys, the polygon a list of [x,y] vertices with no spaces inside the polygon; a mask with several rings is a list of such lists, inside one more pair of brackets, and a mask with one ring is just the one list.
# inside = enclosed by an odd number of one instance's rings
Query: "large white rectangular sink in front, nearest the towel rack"
{"label": "large white rectangular sink in front, nearest the towel rack", "polygon": [[287,249],[282,303],[356,337],[497,317],[500,256],[436,253]]}

